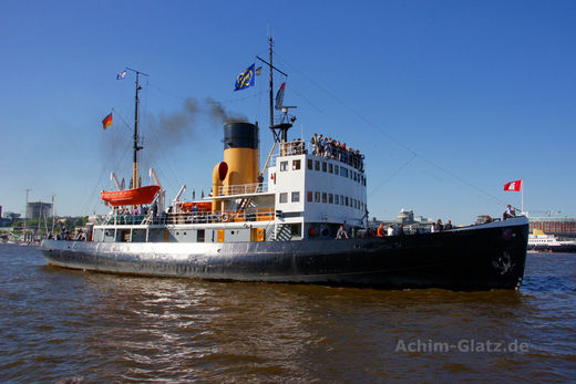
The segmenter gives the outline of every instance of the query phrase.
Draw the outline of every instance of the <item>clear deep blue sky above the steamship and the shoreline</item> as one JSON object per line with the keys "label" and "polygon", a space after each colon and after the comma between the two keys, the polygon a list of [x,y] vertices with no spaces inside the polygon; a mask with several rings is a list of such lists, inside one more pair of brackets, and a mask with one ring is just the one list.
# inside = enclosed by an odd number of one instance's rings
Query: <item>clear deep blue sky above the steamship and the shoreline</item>
{"label": "clear deep blue sky above the steamship and the shoreline", "polygon": [[208,191],[223,157],[205,113],[158,133],[187,97],[260,122],[265,158],[266,76],[233,87],[271,34],[285,104],[298,106],[291,137],[323,133],[366,154],[370,217],[500,216],[521,205],[503,191],[515,179],[526,210],[576,215],[574,1],[3,0],[0,18],[4,211],[23,211],[25,188],[30,200],[55,194],[59,215],[105,211],[110,172],[131,174],[134,76],[115,80],[125,66],[151,75],[143,167],[168,198],[183,184],[187,198]]}

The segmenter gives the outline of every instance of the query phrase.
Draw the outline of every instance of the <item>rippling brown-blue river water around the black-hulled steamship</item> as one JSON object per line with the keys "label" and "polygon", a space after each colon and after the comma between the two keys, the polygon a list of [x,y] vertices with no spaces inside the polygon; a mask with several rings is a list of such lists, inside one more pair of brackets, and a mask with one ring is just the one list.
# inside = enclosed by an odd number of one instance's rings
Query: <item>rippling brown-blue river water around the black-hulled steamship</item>
{"label": "rippling brown-blue river water around the black-hulled steamship", "polygon": [[576,380],[576,255],[528,253],[520,292],[0,271],[0,382]]}

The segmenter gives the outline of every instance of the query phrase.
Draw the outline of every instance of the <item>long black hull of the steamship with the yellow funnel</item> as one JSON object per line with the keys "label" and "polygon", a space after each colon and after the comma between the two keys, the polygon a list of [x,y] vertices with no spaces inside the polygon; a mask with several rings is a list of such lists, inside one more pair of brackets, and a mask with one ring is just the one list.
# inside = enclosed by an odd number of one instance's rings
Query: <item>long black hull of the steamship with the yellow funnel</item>
{"label": "long black hull of the steamship with the yellow funnel", "polygon": [[525,218],[440,233],[263,242],[44,240],[47,261],[89,271],[385,289],[517,289]]}

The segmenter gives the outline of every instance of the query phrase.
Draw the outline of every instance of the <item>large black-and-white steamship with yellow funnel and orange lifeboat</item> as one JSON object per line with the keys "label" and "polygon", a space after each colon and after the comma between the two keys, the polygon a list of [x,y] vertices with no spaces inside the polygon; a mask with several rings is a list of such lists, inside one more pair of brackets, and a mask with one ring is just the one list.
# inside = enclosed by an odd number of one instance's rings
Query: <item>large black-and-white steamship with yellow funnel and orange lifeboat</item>
{"label": "large black-and-white steamship with yellow funnel and orange lifeboat", "polygon": [[[517,217],[440,232],[374,237],[368,229],[363,154],[319,136],[289,139],[294,123],[272,108],[274,145],[259,167],[259,124],[224,126],[223,160],[212,193],[166,207],[164,190],[146,195],[142,212],[127,194],[103,193],[110,212],[86,241],[47,239],[42,251],[58,268],[218,281],[302,283],[377,289],[518,289],[526,260],[528,219]],[[137,122],[137,75],[136,118]],[[135,127],[136,132],[136,127]],[[133,189],[137,184],[134,135]],[[330,143],[330,144],[329,144]],[[374,169],[378,172],[378,169]],[[127,198],[128,200],[121,200]],[[132,211],[128,212],[128,211]]]}

